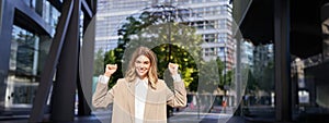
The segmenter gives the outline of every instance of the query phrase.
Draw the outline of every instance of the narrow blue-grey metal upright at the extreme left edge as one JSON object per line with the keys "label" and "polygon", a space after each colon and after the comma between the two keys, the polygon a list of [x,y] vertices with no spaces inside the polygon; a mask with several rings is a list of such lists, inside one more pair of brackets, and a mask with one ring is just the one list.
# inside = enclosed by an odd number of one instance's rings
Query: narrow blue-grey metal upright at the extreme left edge
{"label": "narrow blue-grey metal upright at the extreme left edge", "polygon": [[[0,0],[0,102],[5,100],[5,79],[9,71],[11,33],[13,28],[14,8],[7,0]],[[0,112],[4,103],[0,104]]]}

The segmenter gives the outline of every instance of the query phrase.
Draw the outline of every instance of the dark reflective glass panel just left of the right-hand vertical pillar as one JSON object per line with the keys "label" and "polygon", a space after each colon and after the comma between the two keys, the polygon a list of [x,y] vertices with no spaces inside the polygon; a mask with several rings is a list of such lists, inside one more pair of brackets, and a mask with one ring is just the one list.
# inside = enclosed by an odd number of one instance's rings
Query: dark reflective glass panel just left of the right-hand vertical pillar
{"label": "dark reflective glass panel just left of the right-hand vertical pillar", "polygon": [[247,118],[275,118],[275,83],[273,44],[253,45],[241,41],[241,67],[247,81],[242,113]]}

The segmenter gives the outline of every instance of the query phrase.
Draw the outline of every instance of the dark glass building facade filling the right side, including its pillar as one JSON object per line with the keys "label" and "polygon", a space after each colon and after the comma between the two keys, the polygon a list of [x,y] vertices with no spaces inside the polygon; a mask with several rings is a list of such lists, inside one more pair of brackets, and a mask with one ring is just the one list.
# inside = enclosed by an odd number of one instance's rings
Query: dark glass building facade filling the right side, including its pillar
{"label": "dark glass building facade filling the right side, including its pillar", "polygon": [[328,3],[234,1],[238,39],[254,48],[241,103],[247,121],[328,122]]}

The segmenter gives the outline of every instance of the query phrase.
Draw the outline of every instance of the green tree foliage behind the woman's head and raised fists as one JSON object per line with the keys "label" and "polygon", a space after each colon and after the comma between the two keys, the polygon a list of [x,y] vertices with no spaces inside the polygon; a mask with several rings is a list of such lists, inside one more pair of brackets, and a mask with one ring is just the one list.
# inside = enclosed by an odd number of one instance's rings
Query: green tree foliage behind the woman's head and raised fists
{"label": "green tree foliage behind the woman's head and raised fists", "polygon": [[[232,72],[228,72],[229,75],[226,75],[224,81],[224,63],[220,60],[203,61],[201,35],[197,35],[196,29],[188,23],[178,23],[179,19],[181,17],[173,11],[144,11],[128,16],[117,30],[120,37],[117,48],[105,53],[105,64],[116,63],[118,70],[122,70],[111,77],[111,85],[124,76],[133,51],[140,46],[150,48],[157,54],[160,78],[168,81],[168,77],[166,78],[168,63],[178,63],[190,91],[197,89],[206,91],[211,90],[208,87],[224,88],[224,85],[230,85]],[[218,67],[214,67],[214,64]],[[170,83],[167,84],[170,86]]]}

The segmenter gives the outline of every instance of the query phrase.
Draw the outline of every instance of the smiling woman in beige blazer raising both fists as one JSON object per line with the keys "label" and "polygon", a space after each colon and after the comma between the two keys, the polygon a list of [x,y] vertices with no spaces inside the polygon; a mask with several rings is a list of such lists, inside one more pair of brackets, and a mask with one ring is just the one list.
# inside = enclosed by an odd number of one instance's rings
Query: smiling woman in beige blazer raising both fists
{"label": "smiling woman in beige blazer raising both fists", "polygon": [[186,90],[178,64],[168,65],[173,78],[172,91],[158,78],[156,56],[150,49],[137,48],[125,77],[107,90],[107,82],[116,69],[116,64],[106,65],[92,98],[95,108],[106,108],[113,102],[112,123],[167,123],[167,104],[185,107]]}

